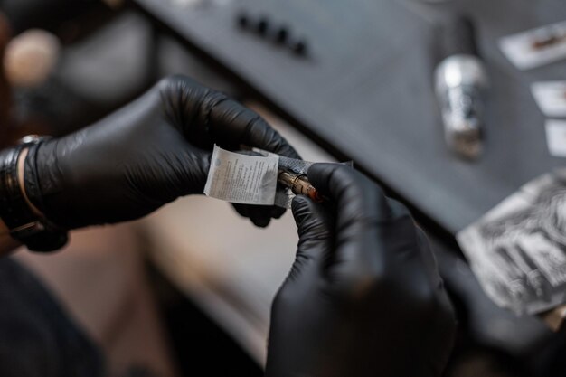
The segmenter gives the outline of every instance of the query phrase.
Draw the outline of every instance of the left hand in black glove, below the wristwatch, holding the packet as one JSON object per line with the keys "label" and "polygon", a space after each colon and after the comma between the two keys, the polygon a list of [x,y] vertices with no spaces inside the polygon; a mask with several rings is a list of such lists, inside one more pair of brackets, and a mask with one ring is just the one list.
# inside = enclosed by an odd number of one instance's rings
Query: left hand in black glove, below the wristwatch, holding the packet
{"label": "left hand in black glove, below the wristwatch, holding the packet", "polygon": [[[299,158],[251,110],[175,76],[90,127],[32,146],[25,191],[63,228],[137,219],[181,195],[203,193],[214,143]],[[271,206],[238,210],[262,227],[284,212]]]}

